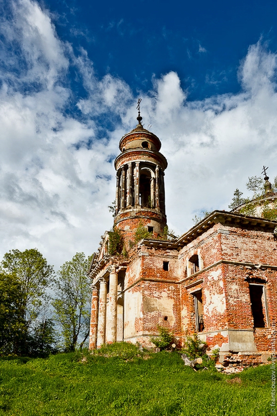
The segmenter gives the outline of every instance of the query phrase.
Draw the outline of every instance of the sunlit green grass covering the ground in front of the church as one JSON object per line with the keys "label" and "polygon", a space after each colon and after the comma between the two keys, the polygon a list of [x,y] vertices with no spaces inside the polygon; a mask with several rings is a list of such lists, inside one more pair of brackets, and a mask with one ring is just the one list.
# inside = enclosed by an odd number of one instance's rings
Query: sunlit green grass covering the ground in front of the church
{"label": "sunlit green grass covering the ground in front of the church", "polygon": [[[132,348],[132,349],[131,349]],[[111,355],[111,356],[110,356]],[[135,346],[0,359],[0,416],[269,416],[270,366],[236,376],[184,367]],[[83,361],[82,361],[83,360]],[[239,377],[241,383],[230,383]]]}

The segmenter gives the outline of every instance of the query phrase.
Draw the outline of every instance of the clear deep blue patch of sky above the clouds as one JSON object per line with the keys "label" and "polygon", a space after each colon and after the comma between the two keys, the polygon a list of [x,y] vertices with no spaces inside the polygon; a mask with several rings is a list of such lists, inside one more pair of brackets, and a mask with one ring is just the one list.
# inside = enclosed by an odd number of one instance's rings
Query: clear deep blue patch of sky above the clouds
{"label": "clear deep blue patch of sky above the clouds", "polygon": [[274,1],[47,1],[58,35],[84,47],[100,77],[147,92],[153,75],[176,71],[188,99],[238,92],[249,45],[276,45]]}

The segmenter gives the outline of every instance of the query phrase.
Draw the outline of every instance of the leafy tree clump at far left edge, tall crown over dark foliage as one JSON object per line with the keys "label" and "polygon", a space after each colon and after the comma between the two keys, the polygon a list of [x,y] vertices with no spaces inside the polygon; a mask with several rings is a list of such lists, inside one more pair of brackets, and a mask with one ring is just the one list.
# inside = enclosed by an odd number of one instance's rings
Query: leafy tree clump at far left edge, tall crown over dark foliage
{"label": "leafy tree clump at far left edge, tall crown over dark foliage", "polygon": [[53,268],[37,249],[6,253],[0,270],[0,352],[36,355]]}

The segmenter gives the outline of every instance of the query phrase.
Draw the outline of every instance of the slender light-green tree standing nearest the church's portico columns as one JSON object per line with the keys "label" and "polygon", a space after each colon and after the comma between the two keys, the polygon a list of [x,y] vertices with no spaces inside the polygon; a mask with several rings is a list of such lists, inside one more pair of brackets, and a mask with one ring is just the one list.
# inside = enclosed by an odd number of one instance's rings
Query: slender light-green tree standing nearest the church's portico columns
{"label": "slender light-green tree standing nearest the church's portico columns", "polygon": [[82,347],[89,336],[91,282],[87,273],[90,263],[91,257],[76,253],[61,266],[55,278],[54,319],[60,326],[66,351],[74,351],[80,337]]}

